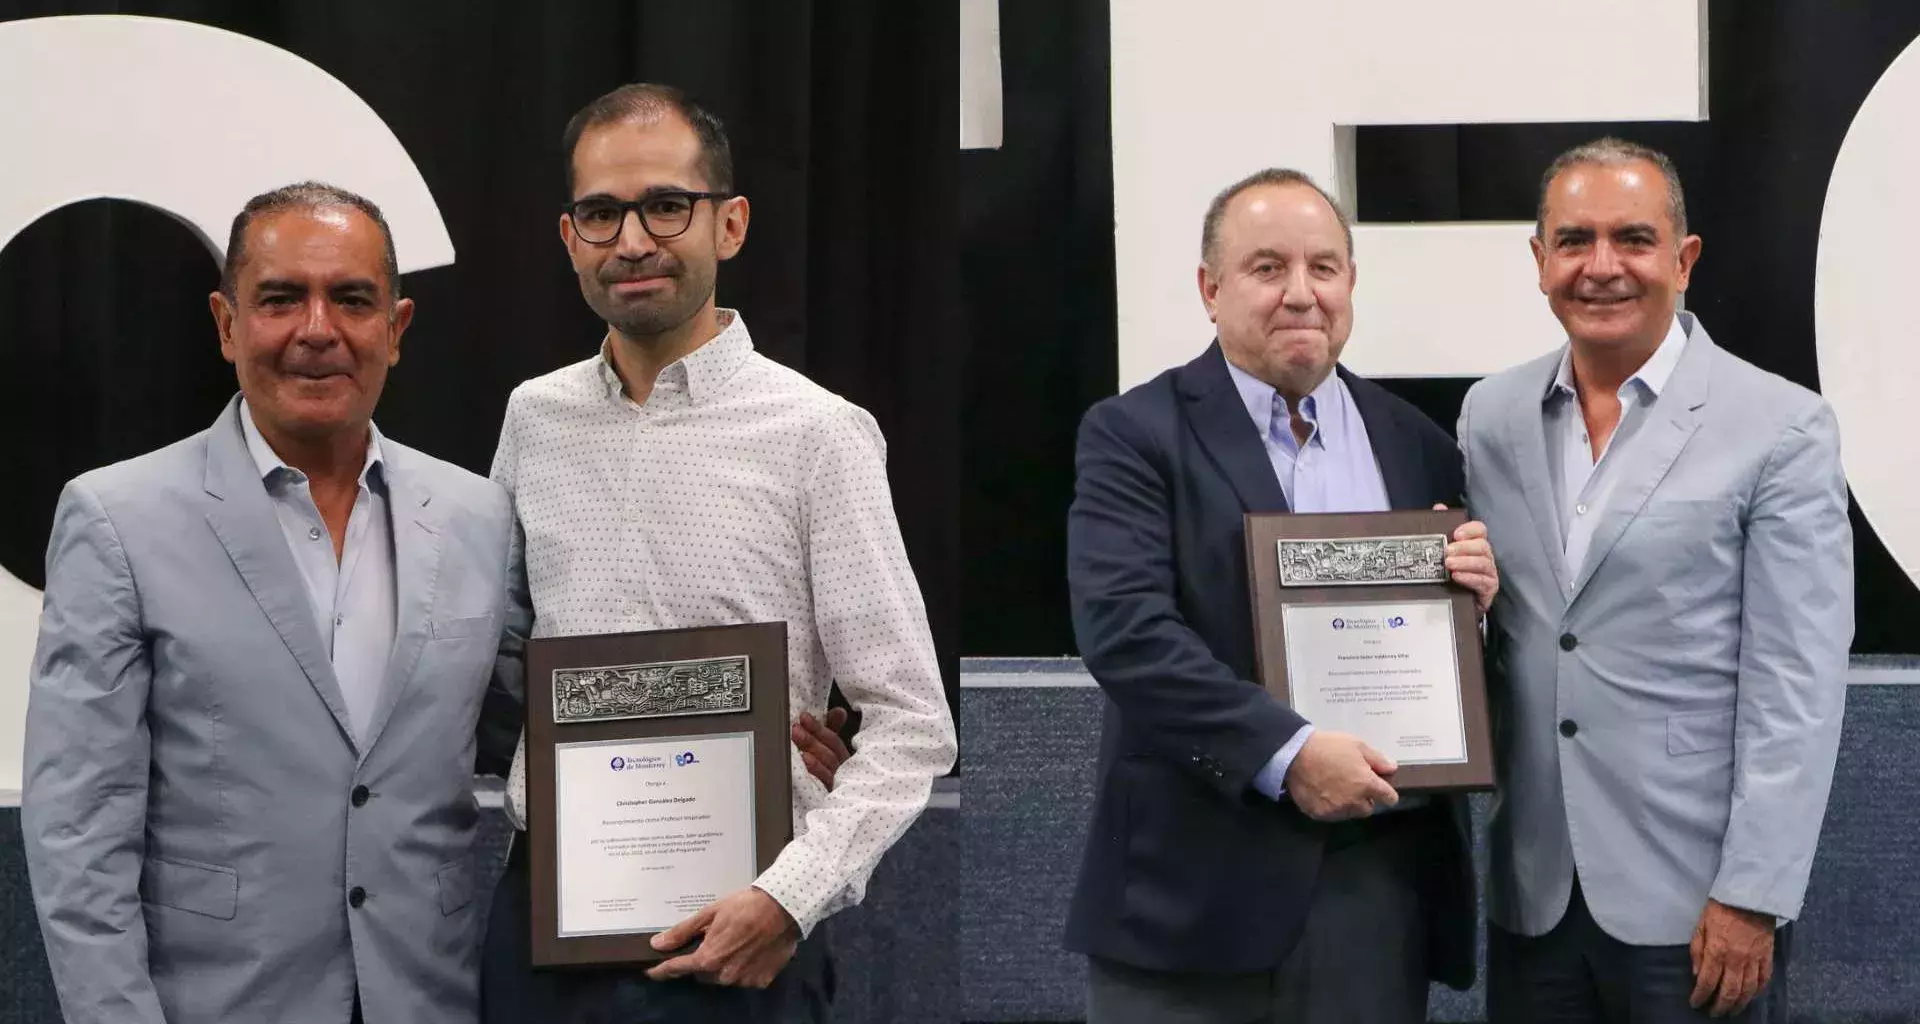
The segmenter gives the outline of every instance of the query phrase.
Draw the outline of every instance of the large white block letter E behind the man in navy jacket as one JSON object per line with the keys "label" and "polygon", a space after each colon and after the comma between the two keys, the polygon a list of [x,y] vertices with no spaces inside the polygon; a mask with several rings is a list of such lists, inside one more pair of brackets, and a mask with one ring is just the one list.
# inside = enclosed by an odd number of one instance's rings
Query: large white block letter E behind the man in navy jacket
{"label": "large white block letter E behind the man in navy jacket", "polygon": [[[1352,209],[1352,125],[1703,119],[1703,21],[1705,0],[1112,0],[1119,386],[1212,338],[1219,188],[1298,167]],[[1530,232],[1359,225],[1348,365],[1476,377],[1559,344]]]}

